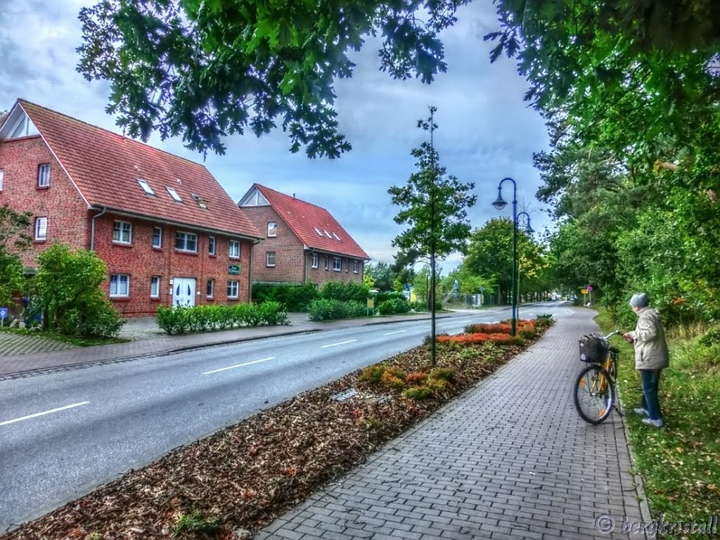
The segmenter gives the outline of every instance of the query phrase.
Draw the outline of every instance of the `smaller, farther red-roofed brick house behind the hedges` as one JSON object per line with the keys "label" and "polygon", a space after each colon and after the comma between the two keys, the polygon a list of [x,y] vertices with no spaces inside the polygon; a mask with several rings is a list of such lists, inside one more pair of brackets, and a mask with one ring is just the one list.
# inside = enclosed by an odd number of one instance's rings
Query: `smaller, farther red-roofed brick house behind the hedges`
{"label": "smaller, farther red-roofed brick house behind the hedges", "polygon": [[265,236],[253,251],[253,282],[362,281],[369,256],[325,208],[260,184],[238,206]]}

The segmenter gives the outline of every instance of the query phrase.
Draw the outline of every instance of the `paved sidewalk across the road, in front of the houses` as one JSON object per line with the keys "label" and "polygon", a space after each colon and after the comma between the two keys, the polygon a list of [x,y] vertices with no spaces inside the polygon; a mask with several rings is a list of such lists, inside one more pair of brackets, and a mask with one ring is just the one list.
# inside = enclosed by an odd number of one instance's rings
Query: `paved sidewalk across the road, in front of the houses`
{"label": "paved sidewalk across the road, in front of the houses", "polygon": [[[24,340],[22,343],[13,343],[12,346],[22,347],[27,354],[5,353],[0,356],[0,380],[17,377],[30,377],[38,372],[52,372],[66,369],[76,369],[81,365],[107,364],[110,362],[136,359],[140,356],[152,356],[176,351],[186,351],[193,348],[248,341],[251,339],[269,336],[287,336],[294,333],[319,332],[322,330],[335,330],[337,328],[354,328],[357,326],[397,323],[403,320],[429,320],[429,314],[422,315],[393,315],[388,317],[368,319],[337,320],[330,323],[313,323],[307,319],[307,313],[289,313],[288,326],[257,326],[255,328],[237,328],[235,330],[221,330],[217,332],[193,333],[168,336],[158,333],[154,322],[148,320],[130,321],[130,329],[125,330],[126,338],[134,341],[100,345],[94,347],[74,347],[55,341],[46,340],[36,336],[17,336]],[[437,318],[451,315],[437,315]],[[428,330],[429,333],[429,330]],[[0,338],[14,334],[2,333]],[[42,348],[44,342],[45,348]],[[48,343],[49,342],[49,343]],[[0,343],[2,345],[2,343]],[[11,346],[6,343],[4,350]],[[42,348],[42,350],[40,350]],[[50,350],[50,348],[55,350]],[[56,350],[62,349],[62,350]]]}

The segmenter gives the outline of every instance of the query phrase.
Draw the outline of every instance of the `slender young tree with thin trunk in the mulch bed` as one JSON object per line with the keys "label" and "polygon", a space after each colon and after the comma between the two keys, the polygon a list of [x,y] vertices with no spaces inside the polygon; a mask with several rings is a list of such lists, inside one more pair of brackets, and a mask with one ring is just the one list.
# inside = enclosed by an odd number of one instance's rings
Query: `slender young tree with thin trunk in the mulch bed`
{"label": "slender young tree with thin trunk in the mulch bed", "polygon": [[439,155],[433,146],[436,125],[433,116],[436,107],[429,107],[428,120],[418,121],[420,129],[430,132],[430,142],[413,148],[412,156],[418,161],[418,171],[411,174],[405,186],[388,189],[392,204],[400,207],[395,216],[398,225],[408,225],[404,233],[392,240],[392,246],[408,253],[414,250],[418,256],[430,261],[430,307],[432,334],[432,362],[435,364],[435,311],[436,311],[436,263],[451,253],[464,253],[470,223],[467,209],[477,196],[471,195],[474,184],[463,184],[455,176],[447,176],[439,164]]}

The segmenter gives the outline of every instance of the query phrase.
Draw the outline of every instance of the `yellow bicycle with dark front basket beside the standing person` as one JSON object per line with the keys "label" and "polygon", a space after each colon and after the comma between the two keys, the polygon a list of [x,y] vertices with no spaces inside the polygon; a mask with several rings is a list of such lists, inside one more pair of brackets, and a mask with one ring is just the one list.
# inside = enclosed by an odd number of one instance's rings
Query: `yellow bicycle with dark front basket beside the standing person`
{"label": "yellow bicycle with dark front basket beside the standing person", "polygon": [[580,360],[589,365],[577,375],[572,398],[580,418],[591,424],[606,420],[616,403],[620,349],[610,345],[611,336],[622,336],[622,332],[615,330],[607,336],[590,334],[580,339]]}

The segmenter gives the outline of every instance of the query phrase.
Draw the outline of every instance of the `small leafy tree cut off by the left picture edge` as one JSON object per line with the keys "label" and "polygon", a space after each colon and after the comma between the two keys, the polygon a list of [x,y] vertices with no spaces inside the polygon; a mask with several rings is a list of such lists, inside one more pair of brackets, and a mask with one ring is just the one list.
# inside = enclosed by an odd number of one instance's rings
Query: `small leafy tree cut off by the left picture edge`
{"label": "small leafy tree cut off by the left picture edge", "polygon": [[[0,114],[0,117],[2,114]],[[19,214],[0,207],[0,305],[11,305],[14,295],[25,288],[24,269],[17,253],[30,246],[30,212]]]}

